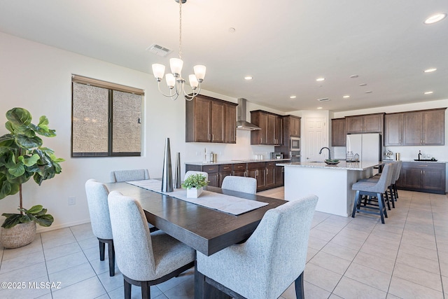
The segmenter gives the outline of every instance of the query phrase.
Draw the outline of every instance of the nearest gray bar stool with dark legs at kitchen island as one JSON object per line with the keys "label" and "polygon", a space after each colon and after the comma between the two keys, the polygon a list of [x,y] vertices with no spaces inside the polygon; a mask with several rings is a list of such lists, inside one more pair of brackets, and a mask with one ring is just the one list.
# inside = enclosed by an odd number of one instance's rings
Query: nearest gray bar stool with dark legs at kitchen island
{"label": "nearest gray bar stool with dark legs at kitchen island", "polygon": [[[384,217],[387,218],[387,211],[384,204],[384,193],[386,192],[389,185],[391,185],[393,174],[393,165],[386,164],[384,166],[383,172],[381,172],[381,176],[379,180],[375,182],[371,181],[358,181],[353,183],[351,186],[351,190],[356,190],[355,201],[353,202],[353,212],[351,213],[351,217],[355,218],[356,212],[363,212],[367,214],[375,214],[381,217],[381,223],[384,224]],[[363,199],[363,195],[370,197],[377,197],[378,206],[370,207],[365,205],[363,209],[361,209],[361,200]],[[373,209],[378,209],[379,211],[372,211]]]}

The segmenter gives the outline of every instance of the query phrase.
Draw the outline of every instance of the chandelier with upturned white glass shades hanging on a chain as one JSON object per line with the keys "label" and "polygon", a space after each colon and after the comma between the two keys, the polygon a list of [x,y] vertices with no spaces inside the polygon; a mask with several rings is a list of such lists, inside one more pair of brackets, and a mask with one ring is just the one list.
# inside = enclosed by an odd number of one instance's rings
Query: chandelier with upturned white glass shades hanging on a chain
{"label": "chandelier with upturned white glass shades hanging on a chain", "polygon": [[171,68],[171,73],[168,73],[165,76],[167,81],[167,85],[169,88],[169,95],[165,95],[165,93],[160,90],[160,81],[165,74],[165,65],[163,64],[153,64],[153,74],[155,80],[158,82],[158,88],[162,95],[165,97],[170,97],[172,100],[177,99],[179,95],[183,95],[186,100],[191,101],[194,97],[199,95],[201,91],[201,83],[204,81],[205,77],[205,69],[204,65],[195,65],[193,67],[195,74],[191,74],[188,76],[188,80],[190,81],[190,87],[193,92],[190,95],[187,95],[185,92],[185,79],[182,78],[181,71],[183,67],[182,60],[182,4],[186,3],[187,0],[174,0],[179,2],[179,58],[171,58],[169,60],[169,67]]}

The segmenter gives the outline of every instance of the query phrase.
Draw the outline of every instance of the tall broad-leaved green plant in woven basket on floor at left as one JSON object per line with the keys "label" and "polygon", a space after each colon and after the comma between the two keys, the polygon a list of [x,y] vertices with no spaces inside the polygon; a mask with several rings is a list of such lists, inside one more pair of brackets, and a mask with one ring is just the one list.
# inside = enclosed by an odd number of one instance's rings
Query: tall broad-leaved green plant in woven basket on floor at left
{"label": "tall broad-leaved green plant in woven basket on floor at left", "polygon": [[38,125],[31,123],[31,114],[23,108],[13,108],[6,112],[9,131],[0,137],[0,200],[19,193],[20,213],[8,214],[3,222],[1,243],[6,248],[17,248],[31,243],[36,235],[36,223],[50,226],[53,217],[41,205],[25,209],[22,204],[22,183],[33,177],[40,186],[61,172],[59,162],[51,148],[42,146],[41,137],[55,137],[55,130],[48,128],[48,118],[41,116]]}

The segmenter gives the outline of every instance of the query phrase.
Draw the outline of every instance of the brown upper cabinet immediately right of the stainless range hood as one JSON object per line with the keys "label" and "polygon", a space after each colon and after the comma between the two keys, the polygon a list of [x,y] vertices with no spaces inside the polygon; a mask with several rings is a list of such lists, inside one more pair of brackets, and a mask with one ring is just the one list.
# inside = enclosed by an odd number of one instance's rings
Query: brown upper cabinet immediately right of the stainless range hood
{"label": "brown upper cabinet immediately right of the stainless range hood", "polygon": [[251,111],[251,123],[261,130],[251,131],[251,144],[280,146],[283,144],[281,116],[266,111]]}

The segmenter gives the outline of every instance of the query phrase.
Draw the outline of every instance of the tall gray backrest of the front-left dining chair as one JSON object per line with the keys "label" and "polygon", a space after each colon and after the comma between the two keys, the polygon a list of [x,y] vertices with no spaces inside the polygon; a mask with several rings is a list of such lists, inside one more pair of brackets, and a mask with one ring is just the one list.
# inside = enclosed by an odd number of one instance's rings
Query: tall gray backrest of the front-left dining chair
{"label": "tall gray backrest of the front-left dining chair", "polygon": [[151,280],[155,260],[148,222],[137,200],[118,191],[109,194],[109,210],[118,269],[130,279]]}

